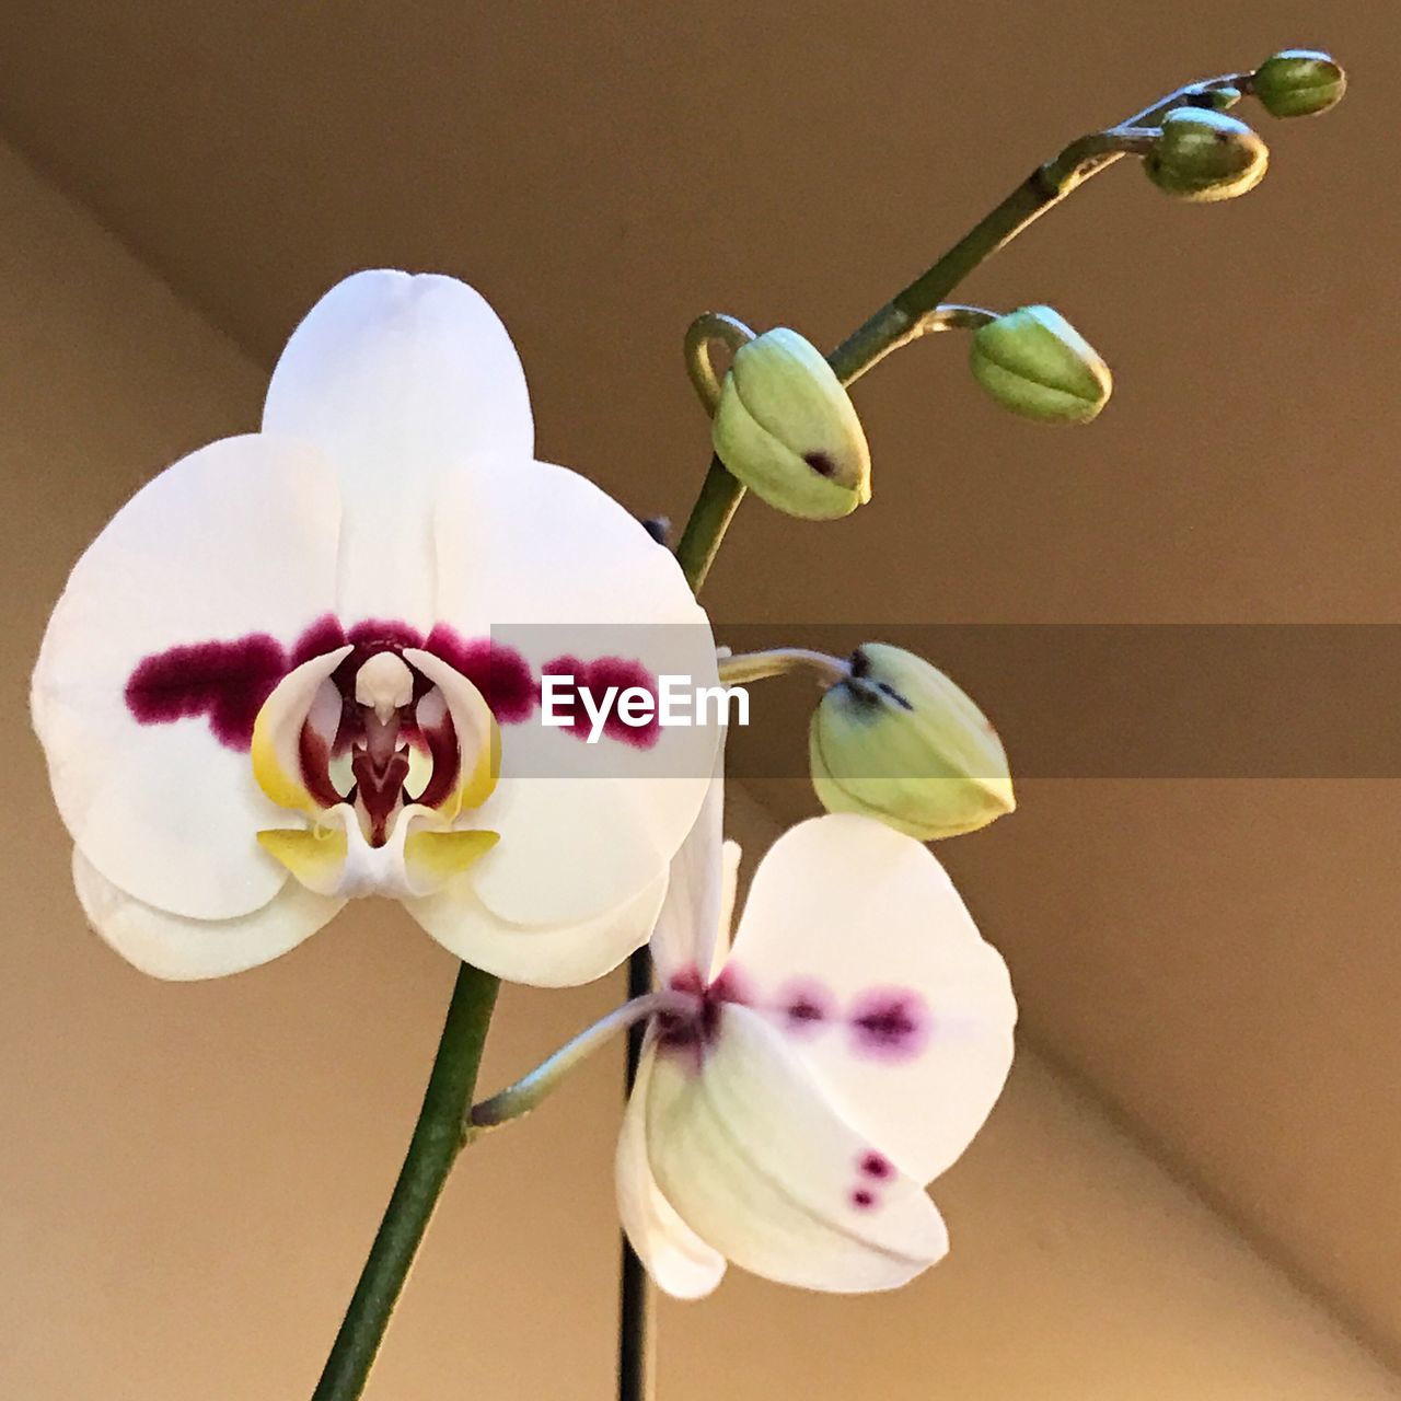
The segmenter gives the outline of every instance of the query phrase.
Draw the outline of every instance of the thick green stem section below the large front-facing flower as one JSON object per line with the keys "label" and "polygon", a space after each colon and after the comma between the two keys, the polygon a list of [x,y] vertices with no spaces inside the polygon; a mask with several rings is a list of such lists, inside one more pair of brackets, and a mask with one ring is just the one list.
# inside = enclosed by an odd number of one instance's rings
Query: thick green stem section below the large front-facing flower
{"label": "thick green stem section below the large front-facing flower", "polygon": [[496,978],[468,964],[458,969],[399,1180],[311,1401],[356,1401],[364,1391],[409,1265],[462,1150],[497,986]]}

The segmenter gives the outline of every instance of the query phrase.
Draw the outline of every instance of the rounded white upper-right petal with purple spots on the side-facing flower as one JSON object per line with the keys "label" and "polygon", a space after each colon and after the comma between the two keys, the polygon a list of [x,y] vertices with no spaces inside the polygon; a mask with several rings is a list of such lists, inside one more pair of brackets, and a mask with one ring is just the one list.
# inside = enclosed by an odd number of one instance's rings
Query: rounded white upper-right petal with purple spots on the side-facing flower
{"label": "rounded white upper-right petal with purple spots on the side-facing flower", "polygon": [[1017,1017],[1007,968],[933,853],[881,822],[831,815],[786,832],[755,873],[730,967],[842,1114],[920,1181],[1002,1093]]}

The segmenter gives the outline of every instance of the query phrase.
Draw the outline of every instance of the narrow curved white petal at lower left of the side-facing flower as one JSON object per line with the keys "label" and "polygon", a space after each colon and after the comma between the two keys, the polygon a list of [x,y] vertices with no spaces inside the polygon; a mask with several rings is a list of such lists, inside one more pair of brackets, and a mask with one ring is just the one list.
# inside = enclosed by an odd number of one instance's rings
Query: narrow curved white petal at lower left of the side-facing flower
{"label": "narrow curved white petal at lower left of the side-facing flower", "polygon": [[713,1251],[661,1195],[647,1163],[647,1083],[656,1048],[643,1051],[623,1114],[614,1180],[618,1215],[647,1274],[674,1299],[702,1299],[724,1278],[724,1257]]}

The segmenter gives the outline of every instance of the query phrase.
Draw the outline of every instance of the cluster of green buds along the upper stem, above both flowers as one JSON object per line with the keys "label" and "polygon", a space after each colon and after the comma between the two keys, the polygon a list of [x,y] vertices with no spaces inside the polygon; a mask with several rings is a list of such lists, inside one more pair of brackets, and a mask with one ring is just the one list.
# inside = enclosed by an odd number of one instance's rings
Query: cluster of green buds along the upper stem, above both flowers
{"label": "cluster of green buds along the upper stem, above both flowers", "polygon": [[[1016,213],[1024,205],[1034,217],[1125,156],[1140,158],[1147,178],[1174,199],[1234,199],[1265,178],[1269,150],[1227,109],[1248,94],[1271,116],[1314,116],[1337,105],[1345,88],[1342,69],[1327,53],[1286,49],[1252,73],[1191,84],[1121,126],[1073,142],[999,209]],[[1149,125],[1150,118],[1157,125]],[[880,335],[881,317],[869,328]],[[870,450],[843,381],[898,345],[955,329],[971,332],[974,380],[1013,413],[1044,423],[1089,423],[1108,403],[1110,367],[1065,317],[1044,305],[999,314],[939,303],[918,315],[906,311],[905,324],[885,335],[874,353],[860,346],[863,332],[848,342],[863,353],[845,375],[794,331],[778,328],[755,336],[736,318],[708,312],[688,332],[686,361],[702,402],[715,413],[715,450],[726,468],[790,516],[834,520],[871,496]],[[716,340],[734,352],[719,389],[709,357]],[[846,364],[845,349],[832,356],[836,367]]]}

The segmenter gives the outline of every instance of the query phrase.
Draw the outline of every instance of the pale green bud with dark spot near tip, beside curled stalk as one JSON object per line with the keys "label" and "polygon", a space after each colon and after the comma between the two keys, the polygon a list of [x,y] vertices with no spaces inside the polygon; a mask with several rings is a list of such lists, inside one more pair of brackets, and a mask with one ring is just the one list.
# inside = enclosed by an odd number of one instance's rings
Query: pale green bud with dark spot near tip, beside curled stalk
{"label": "pale green bud with dark spot near tip, beside curled stalk", "polygon": [[768,331],[734,354],[710,427],[716,454],[789,516],[835,520],[871,496],[862,420],[821,353],[796,331]]}

